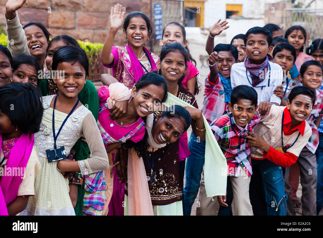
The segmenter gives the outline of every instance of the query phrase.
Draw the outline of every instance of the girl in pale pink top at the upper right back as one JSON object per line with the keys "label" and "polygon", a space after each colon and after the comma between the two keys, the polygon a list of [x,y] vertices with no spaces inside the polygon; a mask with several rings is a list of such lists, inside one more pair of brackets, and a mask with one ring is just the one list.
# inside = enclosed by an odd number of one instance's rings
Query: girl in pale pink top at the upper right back
{"label": "girl in pale pink top at the upper right back", "polygon": [[304,45],[306,44],[306,36],[306,30],[301,26],[292,26],[288,28],[285,33],[285,38],[295,47],[297,55],[295,65],[298,71],[304,62],[314,60],[312,56],[303,53]]}

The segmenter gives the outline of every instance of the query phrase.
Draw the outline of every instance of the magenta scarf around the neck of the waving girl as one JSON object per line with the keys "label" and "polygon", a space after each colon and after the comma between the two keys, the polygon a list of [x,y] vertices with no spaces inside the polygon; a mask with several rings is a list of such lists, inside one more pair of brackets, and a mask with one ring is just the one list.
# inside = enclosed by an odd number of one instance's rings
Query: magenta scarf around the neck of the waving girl
{"label": "magenta scarf around the neck of the waving girl", "polygon": [[[135,55],[133,50],[130,48],[129,44],[127,44],[126,49],[129,54],[129,57],[130,57],[130,62],[131,62],[132,71],[134,74],[133,76],[135,79],[135,83],[137,83],[138,80],[140,79],[140,77],[145,74],[145,72],[143,72],[142,66],[141,66],[137,56]],[[145,47],[143,47],[143,50],[151,62],[152,71],[157,71],[157,66],[151,56],[151,53]]]}

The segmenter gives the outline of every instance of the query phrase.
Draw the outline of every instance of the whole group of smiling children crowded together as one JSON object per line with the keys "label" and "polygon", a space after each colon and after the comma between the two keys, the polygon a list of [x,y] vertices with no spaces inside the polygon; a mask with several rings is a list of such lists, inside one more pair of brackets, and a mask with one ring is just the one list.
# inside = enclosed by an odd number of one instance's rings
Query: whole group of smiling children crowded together
{"label": "whole group of smiling children crowded together", "polygon": [[[303,215],[320,212],[321,39],[305,54],[304,28],[282,38],[267,24],[214,47],[219,20],[199,110],[180,23],[165,25],[158,56],[144,47],[149,18],[111,7],[100,59],[113,75],[96,87],[75,39],[20,25],[23,4],[6,4],[15,44],[0,45],[1,215],[190,215],[199,189],[197,215],[292,215],[295,165]],[[112,45],[120,27],[125,47]]]}

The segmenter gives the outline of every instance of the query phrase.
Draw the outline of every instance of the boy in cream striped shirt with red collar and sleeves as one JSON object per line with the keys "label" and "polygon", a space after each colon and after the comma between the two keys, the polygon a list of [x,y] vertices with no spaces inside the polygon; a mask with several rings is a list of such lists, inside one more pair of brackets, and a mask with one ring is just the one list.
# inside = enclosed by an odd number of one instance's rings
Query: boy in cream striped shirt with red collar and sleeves
{"label": "boy in cream striped shirt with red collar and sleeves", "polygon": [[261,183],[266,198],[267,215],[286,215],[286,193],[282,167],[297,161],[312,130],[305,121],[315,103],[314,90],[297,86],[292,89],[287,107],[272,106],[269,114],[260,120],[254,133],[249,132],[252,169],[260,171],[258,177],[251,177],[250,201],[255,215],[259,215],[259,201],[263,195],[256,187]]}

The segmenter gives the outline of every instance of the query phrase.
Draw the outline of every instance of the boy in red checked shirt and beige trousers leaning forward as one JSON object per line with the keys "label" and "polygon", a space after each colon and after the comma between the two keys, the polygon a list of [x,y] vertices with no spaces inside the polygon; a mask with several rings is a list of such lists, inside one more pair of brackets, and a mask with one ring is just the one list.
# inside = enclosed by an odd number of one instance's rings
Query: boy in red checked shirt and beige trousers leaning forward
{"label": "boy in red checked shirt and beige trousers leaning forward", "polygon": [[[260,121],[260,115],[256,112],[257,97],[252,87],[236,86],[232,89],[231,101],[228,103],[232,113],[219,117],[210,125],[227,160],[227,174],[233,189],[233,215],[253,215],[249,199],[252,175],[250,148],[245,136]],[[217,199],[221,206],[228,206],[225,203],[226,196],[217,196]]]}

